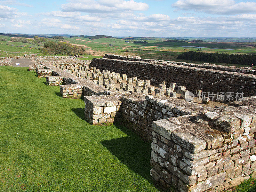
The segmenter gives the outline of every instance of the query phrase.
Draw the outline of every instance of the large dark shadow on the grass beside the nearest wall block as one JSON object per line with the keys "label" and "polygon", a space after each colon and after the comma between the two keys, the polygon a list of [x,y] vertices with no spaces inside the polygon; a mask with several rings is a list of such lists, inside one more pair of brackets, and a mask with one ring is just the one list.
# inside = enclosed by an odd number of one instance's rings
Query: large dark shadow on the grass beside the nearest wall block
{"label": "large dark shadow on the grass beside the nearest wall block", "polygon": [[[117,139],[104,140],[100,143],[116,156],[120,162],[129,167],[133,172],[154,185],[149,172],[151,142],[142,140],[136,133],[125,127],[125,124],[117,122],[114,124],[118,129],[128,136]],[[154,185],[159,191],[164,192],[160,186]]]}

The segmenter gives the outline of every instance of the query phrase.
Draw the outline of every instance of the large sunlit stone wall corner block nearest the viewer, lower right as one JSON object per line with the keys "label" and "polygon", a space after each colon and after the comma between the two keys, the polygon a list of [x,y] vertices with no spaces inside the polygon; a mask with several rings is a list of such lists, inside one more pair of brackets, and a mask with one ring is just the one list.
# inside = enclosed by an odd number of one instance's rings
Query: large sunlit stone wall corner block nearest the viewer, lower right
{"label": "large sunlit stone wall corner block nearest the viewer, lower right", "polygon": [[240,109],[154,121],[152,177],[182,192],[222,191],[255,178],[256,116]]}

